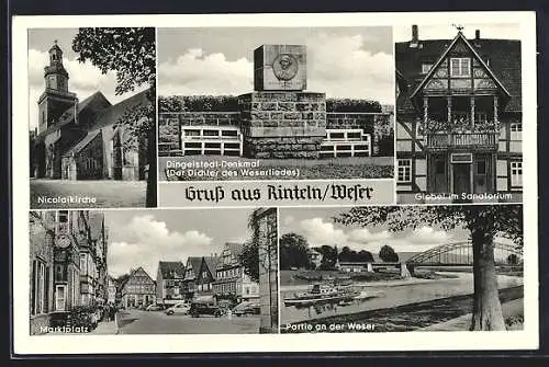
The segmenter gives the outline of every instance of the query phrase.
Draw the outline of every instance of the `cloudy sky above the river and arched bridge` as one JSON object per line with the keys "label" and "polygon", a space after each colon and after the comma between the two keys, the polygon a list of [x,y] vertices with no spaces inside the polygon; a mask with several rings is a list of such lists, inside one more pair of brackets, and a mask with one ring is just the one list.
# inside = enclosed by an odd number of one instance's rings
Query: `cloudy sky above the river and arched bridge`
{"label": "cloudy sky above the river and arched bridge", "polygon": [[[419,226],[415,230],[390,232],[383,226],[362,228],[334,223],[332,218],[347,210],[349,208],[280,208],[280,234],[302,234],[311,248],[337,244],[338,249],[347,245],[355,251],[367,250],[376,254],[385,244],[396,253],[423,252],[469,239],[469,232],[463,229],[445,231],[438,227]],[[497,240],[509,243],[505,239]]]}

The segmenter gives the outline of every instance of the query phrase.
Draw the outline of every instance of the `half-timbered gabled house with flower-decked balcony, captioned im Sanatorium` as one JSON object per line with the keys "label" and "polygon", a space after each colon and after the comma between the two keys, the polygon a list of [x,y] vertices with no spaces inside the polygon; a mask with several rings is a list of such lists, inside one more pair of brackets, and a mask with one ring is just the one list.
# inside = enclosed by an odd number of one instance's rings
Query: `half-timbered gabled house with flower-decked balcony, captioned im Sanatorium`
{"label": "half-timbered gabled house with flower-decked balcony, captioned im Sanatorium", "polygon": [[397,202],[522,200],[520,42],[395,44]]}

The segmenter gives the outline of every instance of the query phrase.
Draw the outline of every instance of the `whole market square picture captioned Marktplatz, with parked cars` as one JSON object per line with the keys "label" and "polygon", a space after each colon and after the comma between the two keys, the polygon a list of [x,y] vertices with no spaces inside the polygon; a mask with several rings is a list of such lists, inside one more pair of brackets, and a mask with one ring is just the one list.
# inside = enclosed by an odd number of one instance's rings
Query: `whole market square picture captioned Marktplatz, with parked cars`
{"label": "whole market square picture captioned Marktplatz, with parked cars", "polygon": [[33,211],[31,334],[278,333],[277,216]]}

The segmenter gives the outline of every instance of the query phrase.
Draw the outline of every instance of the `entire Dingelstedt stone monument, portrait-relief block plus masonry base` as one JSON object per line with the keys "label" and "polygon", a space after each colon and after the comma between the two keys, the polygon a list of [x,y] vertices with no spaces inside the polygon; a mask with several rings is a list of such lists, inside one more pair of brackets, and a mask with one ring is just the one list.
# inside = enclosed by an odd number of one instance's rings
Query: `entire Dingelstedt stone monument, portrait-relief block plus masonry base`
{"label": "entire Dingelstedt stone monument, portrait-relief block plus masonry base", "polygon": [[305,89],[305,46],[255,49],[254,92],[238,96],[245,156],[320,158],[326,136],[326,94]]}

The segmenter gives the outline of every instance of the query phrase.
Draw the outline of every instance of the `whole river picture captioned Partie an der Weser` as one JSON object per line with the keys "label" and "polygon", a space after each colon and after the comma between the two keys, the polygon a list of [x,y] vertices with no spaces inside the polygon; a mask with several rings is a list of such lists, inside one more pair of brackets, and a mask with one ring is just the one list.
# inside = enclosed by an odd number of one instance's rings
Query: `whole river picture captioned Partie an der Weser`
{"label": "whole river picture captioned Partie an der Weser", "polygon": [[523,329],[522,206],[280,211],[281,332]]}

